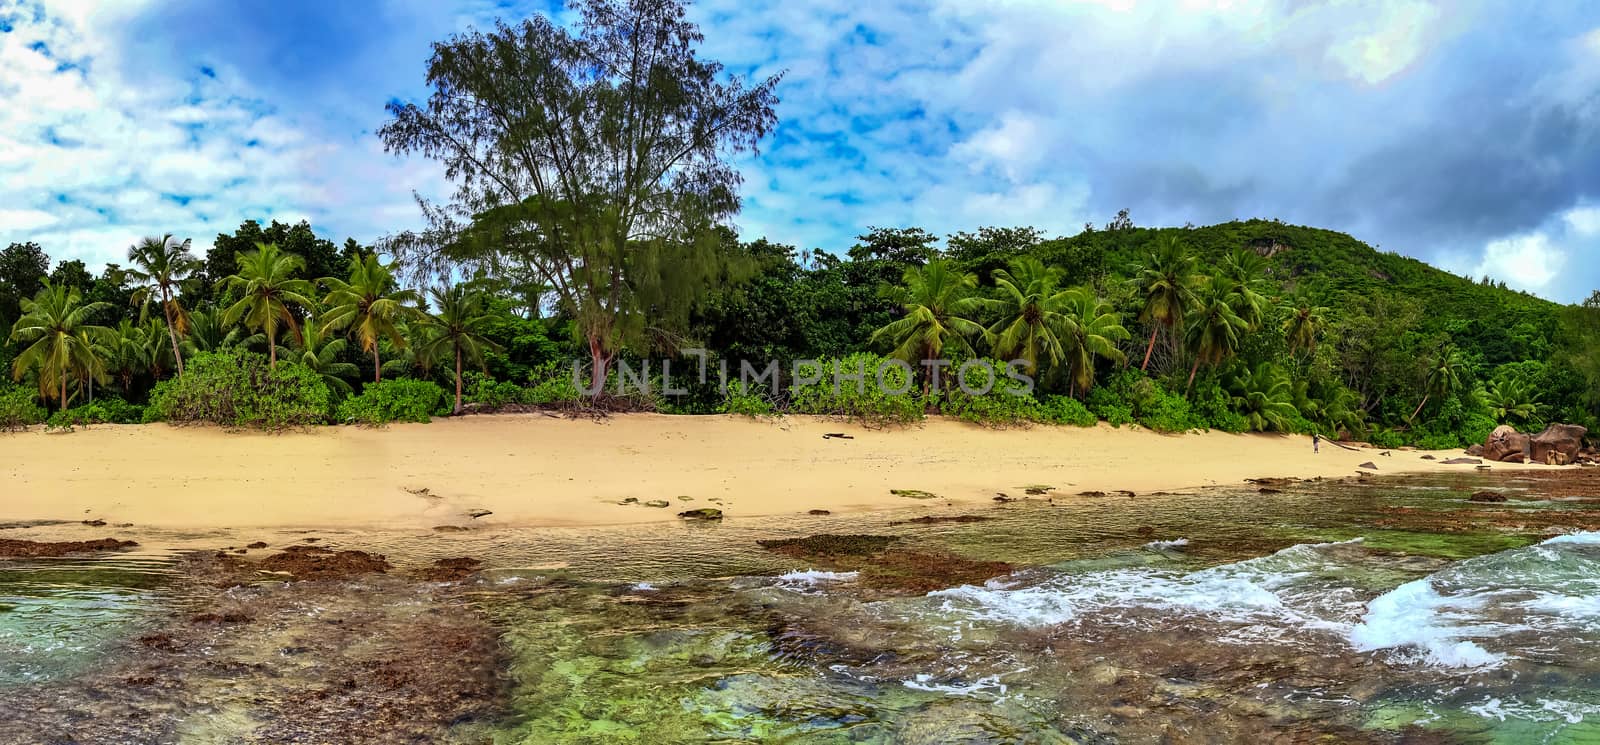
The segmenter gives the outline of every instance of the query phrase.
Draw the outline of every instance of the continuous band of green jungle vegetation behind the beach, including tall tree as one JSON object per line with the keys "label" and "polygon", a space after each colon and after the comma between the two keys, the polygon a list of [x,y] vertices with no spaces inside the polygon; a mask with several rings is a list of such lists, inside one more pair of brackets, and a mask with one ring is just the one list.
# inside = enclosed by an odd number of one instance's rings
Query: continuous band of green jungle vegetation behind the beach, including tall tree
{"label": "continuous band of green jungle vegetation behind the beach, including tall tree", "polygon": [[[677,0],[579,11],[570,27],[534,16],[438,42],[432,96],[389,106],[384,145],[438,160],[454,185],[422,201],[424,230],[336,245],[306,222],[245,221],[203,254],[187,237],[130,237],[126,264],[99,273],[13,237],[0,427],[598,404],[1453,448],[1498,424],[1600,425],[1600,293],[1560,305],[1333,230],[1138,227],[1123,211],[1077,235],[741,237],[733,158],[774,128],[781,77],[696,54]],[[693,347],[712,369],[893,358],[914,379],[904,393],[712,382],[592,401],[571,372],[581,360],[600,385],[619,361],[691,369]],[[976,358],[1021,360],[1037,385],[966,395],[923,365]]]}

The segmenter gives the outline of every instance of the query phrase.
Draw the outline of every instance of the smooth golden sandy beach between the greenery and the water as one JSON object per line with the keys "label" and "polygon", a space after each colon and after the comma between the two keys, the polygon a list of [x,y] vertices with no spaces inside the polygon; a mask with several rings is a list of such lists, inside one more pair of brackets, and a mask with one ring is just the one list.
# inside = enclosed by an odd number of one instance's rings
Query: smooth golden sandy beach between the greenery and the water
{"label": "smooth golden sandy beach between the greenery and the water", "polygon": [[[846,433],[851,440],[824,438]],[[96,425],[0,435],[0,521],[106,520],[144,528],[602,526],[989,504],[1029,484],[1178,491],[1254,476],[1470,470],[1459,451],[1347,451],[1306,436],[1136,428],[992,430],[930,419],[891,430],[816,417],[629,414],[605,420],[475,416],[386,428],[227,432]],[[1512,468],[1496,464],[1496,468]],[[891,489],[918,489],[910,499]],[[688,499],[685,499],[688,497]],[[634,504],[619,504],[634,499]],[[669,507],[645,502],[667,500]]]}

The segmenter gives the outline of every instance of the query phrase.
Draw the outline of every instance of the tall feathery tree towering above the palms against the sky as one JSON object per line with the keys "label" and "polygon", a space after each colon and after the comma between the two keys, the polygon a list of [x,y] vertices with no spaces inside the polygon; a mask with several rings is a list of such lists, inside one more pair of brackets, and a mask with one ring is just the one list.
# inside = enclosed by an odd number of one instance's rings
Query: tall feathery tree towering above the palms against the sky
{"label": "tall feathery tree towering above the palms against the sky", "polygon": [[598,387],[619,349],[686,326],[718,278],[717,227],[739,208],[730,158],[776,125],[779,77],[750,85],[696,56],[682,0],[578,10],[435,43],[434,94],[390,104],[379,134],[456,182],[446,208],[424,205],[430,230],[392,241],[406,265],[531,270],[574,318]]}

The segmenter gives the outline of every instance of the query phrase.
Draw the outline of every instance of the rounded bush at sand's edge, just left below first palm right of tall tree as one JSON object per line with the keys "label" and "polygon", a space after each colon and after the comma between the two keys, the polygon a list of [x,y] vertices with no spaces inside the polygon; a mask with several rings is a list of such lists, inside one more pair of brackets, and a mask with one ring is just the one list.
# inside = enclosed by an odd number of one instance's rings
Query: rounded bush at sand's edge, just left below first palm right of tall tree
{"label": "rounded bush at sand's edge, just left below first palm right of tall tree", "polygon": [[[891,365],[874,353],[858,352],[845,358],[824,358],[818,368],[805,366],[803,372],[819,371],[821,379],[790,390],[790,411],[846,416],[870,424],[904,424],[923,417],[925,403],[912,390],[914,380],[899,365]],[[859,384],[835,377],[861,372],[864,380]],[[891,390],[906,393],[890,393]]]}

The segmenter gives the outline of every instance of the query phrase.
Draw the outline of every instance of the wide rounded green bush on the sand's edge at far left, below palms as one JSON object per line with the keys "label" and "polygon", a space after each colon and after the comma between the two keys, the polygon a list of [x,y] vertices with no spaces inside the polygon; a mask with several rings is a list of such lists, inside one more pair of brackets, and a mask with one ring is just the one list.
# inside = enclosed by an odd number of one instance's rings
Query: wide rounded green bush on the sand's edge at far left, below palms
{"label": "wide rounded green bush on the sand's edge at far left, below palms", "polygon": [[317,371],[290,361],[269,368],[253,352],[205,352],[186,360],[182,377],[150,392],[144,420],[211,422],[282,428],[322,424],[331,395]]}

